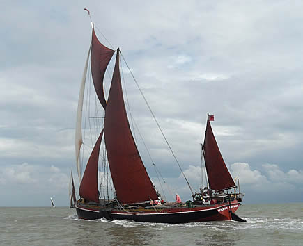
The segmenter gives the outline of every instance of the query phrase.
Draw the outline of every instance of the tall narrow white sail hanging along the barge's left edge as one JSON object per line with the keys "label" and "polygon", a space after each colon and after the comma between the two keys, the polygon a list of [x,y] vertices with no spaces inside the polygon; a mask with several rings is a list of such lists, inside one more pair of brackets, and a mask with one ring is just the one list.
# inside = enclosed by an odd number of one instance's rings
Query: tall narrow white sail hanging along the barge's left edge
{"label": "tall narrow white sail hanging along the barge's left edge", "polygon": [[81,145],[83,143],[83,140],[82,140],[82,109],[83,109],[86,73],[87,73],[87,67],[88,67],[88,58],[89,58],[90,52],[91,52],[91,46],[89,47],[89,50],[88,50],[86,63],[85,63],[84,71],[83,71],[83,75],[82,75],[79,100],[78,100],[78,110],[77,110],[75,147],[76,147],[76,166],[77,166],[79,181],[81,181],[80,149],[81,149]]}

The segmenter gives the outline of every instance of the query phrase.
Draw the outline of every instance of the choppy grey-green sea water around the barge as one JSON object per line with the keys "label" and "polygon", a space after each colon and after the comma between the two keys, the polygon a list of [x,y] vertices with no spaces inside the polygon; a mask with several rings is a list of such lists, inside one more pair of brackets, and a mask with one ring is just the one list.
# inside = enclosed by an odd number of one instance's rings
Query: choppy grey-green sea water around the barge
{"label": "choppy grey-green sea water around the barge", "polygon": [[79,220],[74,209],[0,207],[0,245],[303,245],[303,204],[240,206],[243,222]]}

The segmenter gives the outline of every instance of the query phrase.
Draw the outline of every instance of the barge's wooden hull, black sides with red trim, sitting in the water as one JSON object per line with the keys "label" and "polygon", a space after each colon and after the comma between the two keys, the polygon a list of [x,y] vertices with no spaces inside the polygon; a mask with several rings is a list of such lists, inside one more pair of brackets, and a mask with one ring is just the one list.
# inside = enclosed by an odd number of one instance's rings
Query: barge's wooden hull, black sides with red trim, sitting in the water
{"label": "barge's wooden hull, black sides with red trim, sitting in the water", "polygon": [[231,220],[231,212],[239,207],[239,202],[216,204],[212,206],[199,206],[196,208],[164,208],[162,210],[114,210],[88,208],[77,204],[76,211],[79,218],[84,220],[96,220],[106,218],[107,220],[133,220],[136,222],[153,222],[153,223],[189,223],[189,222],[206,222],[217,220]]}

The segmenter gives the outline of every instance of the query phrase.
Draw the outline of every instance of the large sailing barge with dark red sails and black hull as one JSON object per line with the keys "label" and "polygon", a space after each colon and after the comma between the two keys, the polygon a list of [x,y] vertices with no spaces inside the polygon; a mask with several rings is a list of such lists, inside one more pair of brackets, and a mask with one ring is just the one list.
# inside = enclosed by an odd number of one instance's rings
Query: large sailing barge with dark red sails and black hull
{"label": "large sailing barge with dark red sails and black hull", "polygon": [[[91,47],[86,59],[77,110],[75,143],[77,170],[81,181],[79,186],[80,199],[77,201],[75,199],[75,188],[72,180],[70,207],[76,209],[79,218],[88,220],[106,218],[107,220],[161,223],[241,221],[242,219],[235,215],[235,211],[240,206],[242,194],[240,192],[226,193],[226,190],[235,189],[237,186],[226,168],[212,133],[210,126],[210,120],[213,120],[212,115],[208,115],[203,143],[203,156],[209,186],[201,188],[200,193],[194,194],[192,192],[192,200],[186,203],[164,202],[162,200],[160,193],[155,190],[155,186],[146,172],[130,129],[121,86],[119,66],[121,51],[119,49],[116,50],[116,63],[107,101],[104,97],[104,73],[114,53],[113,49],[101,44],[95,35],[92,24]],[[95,93],[105,113],[103,129],[95,142],[81,177],[80,149],[83,143],[81,118],[89,57]],[[104,137],[111,179],[114,184],[114,199],[100,197],[98,191],[98,161],[102,137]],[[187,184],[189,185],[188,181]],[[189,188],[192,191],[190,186]]]}

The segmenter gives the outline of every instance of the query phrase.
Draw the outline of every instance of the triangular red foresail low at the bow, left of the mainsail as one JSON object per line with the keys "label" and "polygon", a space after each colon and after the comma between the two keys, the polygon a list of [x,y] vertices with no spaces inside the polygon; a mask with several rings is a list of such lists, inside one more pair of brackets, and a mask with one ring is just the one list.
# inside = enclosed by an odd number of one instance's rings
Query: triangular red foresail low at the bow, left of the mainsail
{"label": "triangular red foresail low at the bow, left of the mainsail", "polygon": [[79,195],[89,201],[99,203],[98,192],[98,161],[103,130],[89,156],[79,188]]}

